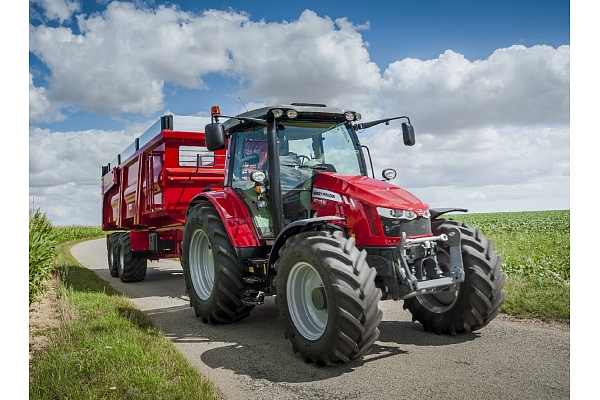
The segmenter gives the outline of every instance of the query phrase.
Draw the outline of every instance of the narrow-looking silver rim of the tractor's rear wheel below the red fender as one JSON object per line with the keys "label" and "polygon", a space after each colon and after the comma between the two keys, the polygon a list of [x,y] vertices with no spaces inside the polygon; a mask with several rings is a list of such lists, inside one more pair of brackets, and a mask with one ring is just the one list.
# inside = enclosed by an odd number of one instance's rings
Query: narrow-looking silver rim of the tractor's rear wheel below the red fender
{"label": "narrow-looking silver rim of the tractor's rear wheel below the red fender", "polygon": [[198,297],[208,300],[215,285],[215,261],[208,236],[200,229],[190,240],[190,275]]}

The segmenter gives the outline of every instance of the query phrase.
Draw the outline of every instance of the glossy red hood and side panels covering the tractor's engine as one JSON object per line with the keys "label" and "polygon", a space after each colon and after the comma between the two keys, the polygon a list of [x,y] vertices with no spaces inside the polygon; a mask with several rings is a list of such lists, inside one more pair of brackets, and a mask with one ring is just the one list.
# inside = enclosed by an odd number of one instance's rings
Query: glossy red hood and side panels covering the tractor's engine
{"label": "glossy red hood and side panels covering the tractor's engine", "polygon": [[410,210],[417,214],[429,208],[406,190],[366,176],[322,172],[315,179],[314,188],[341,196],[341,202],[313,198],[312,209],[319,217],[346,218],[345,226],[358,246],[389,246],[399,240],[384,235],[376,207]]}

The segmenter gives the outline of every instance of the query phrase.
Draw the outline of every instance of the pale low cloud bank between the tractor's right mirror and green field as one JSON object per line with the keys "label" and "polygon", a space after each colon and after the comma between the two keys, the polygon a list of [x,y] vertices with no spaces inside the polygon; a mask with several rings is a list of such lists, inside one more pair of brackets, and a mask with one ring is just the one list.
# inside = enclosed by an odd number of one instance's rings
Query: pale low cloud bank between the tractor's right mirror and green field
{"label": "pale low cloud bank between the tractor's right mirror and green field", "polygon": [[523,210],[532,202],[537,209],[569,207],[568,126],[447,135],[420,135],[417,130],[416,136],[413,147],[402,144],[399,129],[380,130],[362,142],[371,149],[376,171],[396,169],[392,183],[431,205],[473,212]]}

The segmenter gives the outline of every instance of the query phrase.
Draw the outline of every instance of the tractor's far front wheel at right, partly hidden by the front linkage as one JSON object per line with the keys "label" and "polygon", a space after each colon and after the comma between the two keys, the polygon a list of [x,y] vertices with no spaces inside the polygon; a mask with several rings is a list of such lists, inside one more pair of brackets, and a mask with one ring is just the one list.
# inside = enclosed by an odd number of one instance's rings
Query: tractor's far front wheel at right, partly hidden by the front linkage
{"label": "tractor's far front wheel at right, partly hidden by the front linkage", "polygon": [[[498,315],[506,274],[500,270],[501,258],[494,253],[494,243],[485,239],[481,230],[456,221],[432,221],[436,235],[449,226],[458,227],[461,232],[465,281],[458,290],[406,299],[404,308],[425,330],[455,335],[481,329]],[[449,265],[448,254],[440,251],[438,262]]]}

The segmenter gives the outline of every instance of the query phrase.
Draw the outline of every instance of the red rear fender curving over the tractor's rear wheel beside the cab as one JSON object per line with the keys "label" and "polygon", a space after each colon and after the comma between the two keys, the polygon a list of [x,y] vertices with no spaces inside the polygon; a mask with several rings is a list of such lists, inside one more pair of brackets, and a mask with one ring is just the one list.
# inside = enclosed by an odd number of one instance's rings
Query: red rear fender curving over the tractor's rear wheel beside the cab
{"label": "red rear fender curving over the tractor's rear wheel beside the cab", "polygon": [[203,191],[190,201],[187,212],[203,200],[210,201],[216,208],[221,221],[223,221],[229,240],[234,247],[258,247],[264,245],[264,241],[258,238],[254,230],[252,217],[248,209],[232,188],[225,187],[222,191]]}

